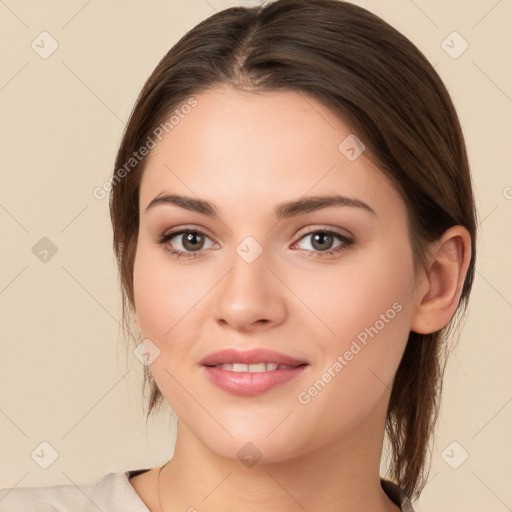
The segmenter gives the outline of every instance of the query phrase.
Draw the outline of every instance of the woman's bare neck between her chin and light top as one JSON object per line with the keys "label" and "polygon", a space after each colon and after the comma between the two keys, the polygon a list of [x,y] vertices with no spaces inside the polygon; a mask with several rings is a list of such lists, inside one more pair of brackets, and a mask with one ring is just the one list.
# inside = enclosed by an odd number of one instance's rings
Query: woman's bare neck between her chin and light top
{"label": "woman's bare neck between her chin and light top", "polygon": [[380,486],[384,425],[370,420],[298,457],[252,466],[212,452],[179,422],[174,455],[160,474],[162,512],[398,512]]}

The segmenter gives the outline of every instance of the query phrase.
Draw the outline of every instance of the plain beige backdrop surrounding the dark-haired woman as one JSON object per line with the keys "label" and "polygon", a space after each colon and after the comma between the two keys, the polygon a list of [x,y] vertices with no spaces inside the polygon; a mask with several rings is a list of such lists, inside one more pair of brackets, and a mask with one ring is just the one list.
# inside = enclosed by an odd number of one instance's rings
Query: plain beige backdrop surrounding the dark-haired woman
{"label": "plain beige backdrop surrounding the dark-haired woman", "polygon": [[[408,36],[445,81],[480,216],[470,311],[416,510],[511,510],[512,2],[357,3]],[[172,455],[169,415],[145,427],[142,366],[126,360],[118,333],[108,202],[92,190],[109,178],[124,123],[160,58],[214,10],[236,4],[0,1],[0,487],[93,483]],[[58,42],[46,59],[31,47],[42,46],[43,31]],[[453,31],[469,44],[456,59],[441,45]],[[57,248],[46,262],[32,252],[42,237]],[[42,442],[58,453],[48,469],[31,457]],[[447,447],[451,458],[442,456]],[[460,462],[462,450],[469,456],[453,469],[444,459]]]}

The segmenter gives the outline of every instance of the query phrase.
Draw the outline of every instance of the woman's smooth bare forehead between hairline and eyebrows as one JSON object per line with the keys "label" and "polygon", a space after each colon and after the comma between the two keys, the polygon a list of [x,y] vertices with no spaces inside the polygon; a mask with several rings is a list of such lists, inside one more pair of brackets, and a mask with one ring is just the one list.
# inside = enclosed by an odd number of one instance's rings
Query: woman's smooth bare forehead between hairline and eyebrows
{"label": "woman's smooth bare forehead between hairline and eyebrows", "polygon": [[141,208],[162,192],[269,211],[289,198],[336,192],[403,213],[398,193],[364,152],[347,158],[340,144],[351,140],[350,130],[312,97],[220,87],[193,98],[196,105],[151,150]]}

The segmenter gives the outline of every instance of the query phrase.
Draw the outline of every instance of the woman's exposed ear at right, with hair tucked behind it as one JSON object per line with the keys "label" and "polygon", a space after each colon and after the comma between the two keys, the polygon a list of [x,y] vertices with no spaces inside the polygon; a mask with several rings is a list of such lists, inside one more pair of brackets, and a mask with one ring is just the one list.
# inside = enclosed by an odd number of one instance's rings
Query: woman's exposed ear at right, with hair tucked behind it
{"label": "woman's exposed ear at right, with hair tucked behind it", "polygon": [[442,329],[459,303],[471,260],[471,235],[464,226],[452,226],[430,248],[428,285],[422,287],[412,317],[411,331],[429,334]]}

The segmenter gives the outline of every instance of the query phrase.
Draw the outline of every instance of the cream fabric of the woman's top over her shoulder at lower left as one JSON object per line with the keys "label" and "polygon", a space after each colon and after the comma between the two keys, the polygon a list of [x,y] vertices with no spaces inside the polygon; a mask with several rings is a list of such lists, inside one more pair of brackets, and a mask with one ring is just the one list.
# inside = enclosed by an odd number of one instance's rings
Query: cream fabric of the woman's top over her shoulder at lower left
{"label": "cream fabric of the woman's top over her shoulder at lower left", "polygon": [[144,471],[109,472],[89,485],[0,488],[0,512],[149,512],[129,481]]}

